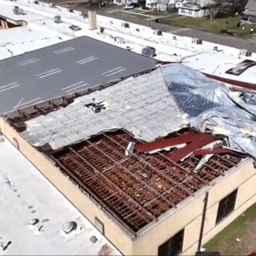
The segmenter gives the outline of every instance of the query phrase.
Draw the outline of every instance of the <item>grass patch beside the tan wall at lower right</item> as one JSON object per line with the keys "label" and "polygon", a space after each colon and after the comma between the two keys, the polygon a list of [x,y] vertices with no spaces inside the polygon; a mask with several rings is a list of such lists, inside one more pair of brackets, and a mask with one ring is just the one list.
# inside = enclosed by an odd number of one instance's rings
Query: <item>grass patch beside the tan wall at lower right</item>
{"label": "grass patch beside the tan wall at lower right", "polygon": [[221,255],[249,255],[256,250],[256,204],[203,246]]}

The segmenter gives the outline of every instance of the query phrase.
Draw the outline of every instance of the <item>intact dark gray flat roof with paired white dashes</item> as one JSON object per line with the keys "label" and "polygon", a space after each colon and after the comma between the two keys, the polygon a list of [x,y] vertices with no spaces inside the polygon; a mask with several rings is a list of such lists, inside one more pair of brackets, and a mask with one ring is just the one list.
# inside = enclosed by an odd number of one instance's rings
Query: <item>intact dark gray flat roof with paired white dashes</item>
{"label": "intact dark gray flat roof with paired white dashes", "polygon": [[[0,61],[0,113],[155,67],[155,59],[79,37]],[[33,101],[34,102],[34,101]]]}

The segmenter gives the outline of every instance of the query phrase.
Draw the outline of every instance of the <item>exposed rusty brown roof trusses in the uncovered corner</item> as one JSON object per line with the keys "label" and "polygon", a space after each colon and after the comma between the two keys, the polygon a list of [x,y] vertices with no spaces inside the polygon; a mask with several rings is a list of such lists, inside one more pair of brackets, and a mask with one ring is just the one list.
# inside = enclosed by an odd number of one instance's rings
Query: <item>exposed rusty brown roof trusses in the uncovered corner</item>
{"label": "exposed rusty brown roof trusses in the uncovered corner", "polygon": [[[194,131],[171,136],[185,133]],[[198,173],[193,173],[201,156],[191,155],[178,163],[167,157],[170,152],[165,151],[128,157],[125,149],[129,141],[135,139],[119,130],[49,155],[71,180],[133,234],[178,207],[216,177],[225,175],[241,160],[240,156],[230,154],[214,155]]]}

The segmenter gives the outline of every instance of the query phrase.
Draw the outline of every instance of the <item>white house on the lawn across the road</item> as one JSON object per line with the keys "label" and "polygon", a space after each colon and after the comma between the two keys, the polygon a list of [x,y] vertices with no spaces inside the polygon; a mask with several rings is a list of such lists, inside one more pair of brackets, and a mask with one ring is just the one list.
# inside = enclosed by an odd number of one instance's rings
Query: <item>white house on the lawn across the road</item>
{"label": "white house on the lawn across the road", "polygon": [[178,14],[181,16],[188,17],[205,17],[209,15],[208,7],[201,7],[201,5],[197,3],[181,3],[181,5],[177,6]]}

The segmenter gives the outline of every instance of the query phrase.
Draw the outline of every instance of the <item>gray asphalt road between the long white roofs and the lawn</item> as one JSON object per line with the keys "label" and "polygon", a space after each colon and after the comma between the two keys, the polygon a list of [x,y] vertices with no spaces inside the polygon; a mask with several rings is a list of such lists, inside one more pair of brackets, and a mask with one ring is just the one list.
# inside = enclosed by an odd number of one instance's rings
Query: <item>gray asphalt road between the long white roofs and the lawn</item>
{"label": "gray asphalt road between the long white roofs and the lawn", "polygon": [[[80,11],[88,10],[87,5],[76,5],[74,9]],[[199,31],[195,29],[184,29],[181,27],[175,27],[172,25],[155,23],[155,21],[149,21],[148,17],[137,15],[136,13],[125,12],[122,9],[117,9],[116,6],[103,7],[101,9],[95,8],[97,13],[100,15],[105,15],[107,17],[113,17],[116,19],[123,19],[124,21],[129,21],[132,23],[137,23],[140,25],[150,26],[154,29],[160,29],[162,31],[175,33],[176,35],[183,35],[187,37],[197,37],[203,39],[203,41],[209,41],[212,43],[219,43],[221,45],[227,45],[239,49],[248,49],[256,52],[256,39],[241,39],[237,37],[231,37],[226,35],[218,35],[214,33],[207,33],[204,31]],[[182,22],[182,21],[181,21]]]}

